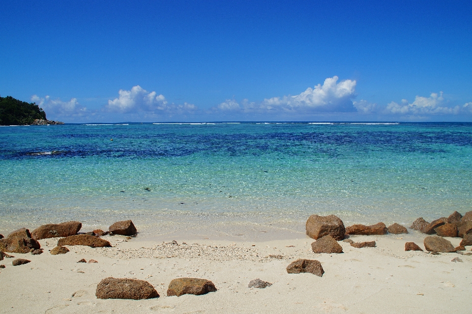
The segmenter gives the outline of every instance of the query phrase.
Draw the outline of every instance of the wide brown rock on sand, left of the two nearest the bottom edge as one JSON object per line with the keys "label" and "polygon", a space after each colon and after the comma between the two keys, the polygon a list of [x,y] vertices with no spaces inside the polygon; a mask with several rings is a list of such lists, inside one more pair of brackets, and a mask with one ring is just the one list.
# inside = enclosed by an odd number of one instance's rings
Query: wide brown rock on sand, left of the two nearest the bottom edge
{"label": "wide brown rock on sand, left of the two nearest the bottom edge", "polygon": [[102,279],[95,295],[98,299],[142,300],[159,297],[156,289],[147,281],[113,277]]}

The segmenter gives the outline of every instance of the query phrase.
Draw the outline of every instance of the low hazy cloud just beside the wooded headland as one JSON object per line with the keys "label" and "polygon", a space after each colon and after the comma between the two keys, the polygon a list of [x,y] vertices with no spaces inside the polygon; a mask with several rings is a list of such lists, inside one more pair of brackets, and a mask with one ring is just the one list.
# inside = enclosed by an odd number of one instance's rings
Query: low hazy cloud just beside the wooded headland
{"label": "low hazy cloud just beside the wooded headland", "polygon": [[77,98],[72,98],[69,101],[62,101],[59,98],[52,99],[50,96],[39,97],[37,95],[31,96],[31,101],[35,102],[42,108],[49,116],[84,116],[89,114],[87,107],[83,107],[77,101]]}

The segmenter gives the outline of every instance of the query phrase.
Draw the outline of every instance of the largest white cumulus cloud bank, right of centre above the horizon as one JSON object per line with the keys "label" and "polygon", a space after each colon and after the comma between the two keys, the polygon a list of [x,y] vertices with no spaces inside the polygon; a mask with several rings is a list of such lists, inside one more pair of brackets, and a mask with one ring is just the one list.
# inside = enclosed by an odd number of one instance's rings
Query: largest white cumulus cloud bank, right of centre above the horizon
{"label": "largest white cumulus cloud bank, right of centre above the horizon", "polygon": [[241,113],[355,112],[353,99],[356,82],[345,80],[337,83],[338,79],[337,76],[333,76],[325,79],[323,85],[308,87],[298,95],[266,98],[260,103],[244,99],[239,104],[234,99],[228,99],[213,110]]}

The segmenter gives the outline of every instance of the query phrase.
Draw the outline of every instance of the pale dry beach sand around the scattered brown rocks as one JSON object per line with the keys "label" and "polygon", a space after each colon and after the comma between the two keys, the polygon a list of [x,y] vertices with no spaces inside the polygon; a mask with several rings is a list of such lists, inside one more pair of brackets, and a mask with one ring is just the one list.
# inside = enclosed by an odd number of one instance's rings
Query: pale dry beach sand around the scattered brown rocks
{"label": "pale dry beach sand around the scattered brown rocks", "polygon": [[[377,242],[356,249],[339,242],[343,254],[314,254],[308,237],[264,242],[211,239],[169,241],[105,236],[112,248],[68,246],[51,255],[58,239],[40,240],[41,255],[12,254],[30,263],[0,264],[1,313],[471,313],[472,256],[405,252],[405,242],[421,248],[424,234],[352,236]],[[448,238],[454,246],[461,239]],[[186,242],[183,244],[182,242]],[[255,245],[255,246],[252,246]],[[468,251],[471,247],[467,247]],[[459,257],[463,262],[452,262]],[[85,258],[98,263],[77,263]],[[297,258],[319,260],[323,277],[287,274]],[[101,300],[97,284],[106,277],[146,280],[160,297],[149,300]],[[179,277],[211,280],[218,291],[167,297]],[[273,283],[248,288],[260,278]]]}

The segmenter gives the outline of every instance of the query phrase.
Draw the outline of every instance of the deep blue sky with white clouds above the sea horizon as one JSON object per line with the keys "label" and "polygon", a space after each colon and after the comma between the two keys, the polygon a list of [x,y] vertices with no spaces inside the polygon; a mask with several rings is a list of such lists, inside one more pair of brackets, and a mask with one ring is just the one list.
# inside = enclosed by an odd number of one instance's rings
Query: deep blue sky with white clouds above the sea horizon
{"label": "deep blue sky with white clouds above the sea horizon", "polygon": [[472,121],[471,1],[0,1],[0,95],[64,122]]}

